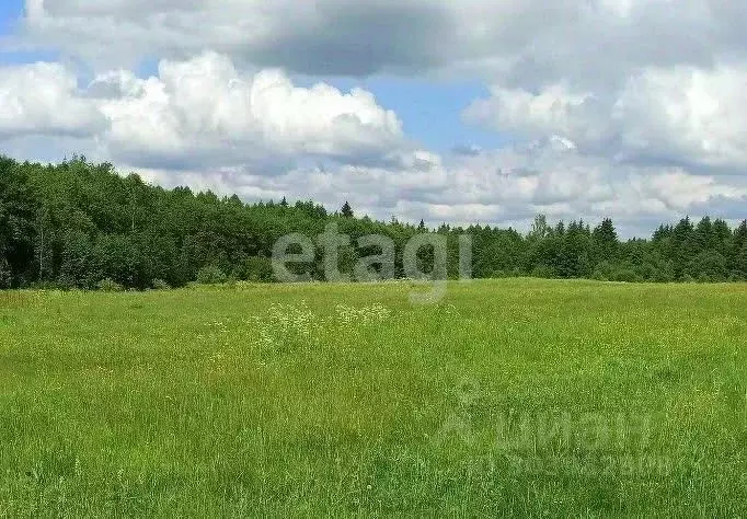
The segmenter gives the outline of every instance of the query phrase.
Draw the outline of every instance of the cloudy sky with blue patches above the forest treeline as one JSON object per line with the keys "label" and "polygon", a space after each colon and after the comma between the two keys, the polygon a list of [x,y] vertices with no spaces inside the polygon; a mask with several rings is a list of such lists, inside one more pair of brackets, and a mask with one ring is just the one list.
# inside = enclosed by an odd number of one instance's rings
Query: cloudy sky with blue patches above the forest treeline
{"label": "cloudy sky with blue patches above the forest treeline", "polygon": [[747,217],[744,0],[1,0],[0,153],[432,224]]}

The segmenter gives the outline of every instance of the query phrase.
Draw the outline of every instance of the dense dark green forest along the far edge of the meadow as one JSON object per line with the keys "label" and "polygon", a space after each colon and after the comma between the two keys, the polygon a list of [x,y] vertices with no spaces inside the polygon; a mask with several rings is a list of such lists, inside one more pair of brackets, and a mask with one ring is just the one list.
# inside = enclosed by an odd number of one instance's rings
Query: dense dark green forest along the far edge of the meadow
{"label": "dense dark green forest along the far edge of the meadow", "polygon": [[[112,164],[74,158],[55,165],[0,157],[0,288],[179,287],[200,280],[272,281],[276,240],[309,237],[336,222],[353,238],[341,270],[359,255],[355,239],[384,234],[402,249],[416,233],[448,238],[449,273],[458,269],[458,237],[473,240],[473,276],[595,278],[618,281],[747,280],[747,221],[689,218],[662,224],[648,240],[621,241],[613,222],[550,224],[542,216],[521,234],[514,229],[447,224],[436,230],[356,217],[347,203],[336,212],[312,201],[244,204],[235,195],[164,189]],[[427,253],[427,251],[426,251]],[[427,254],[425,254],[427,256]],[[308,268],[322,279],[321,258]]]}

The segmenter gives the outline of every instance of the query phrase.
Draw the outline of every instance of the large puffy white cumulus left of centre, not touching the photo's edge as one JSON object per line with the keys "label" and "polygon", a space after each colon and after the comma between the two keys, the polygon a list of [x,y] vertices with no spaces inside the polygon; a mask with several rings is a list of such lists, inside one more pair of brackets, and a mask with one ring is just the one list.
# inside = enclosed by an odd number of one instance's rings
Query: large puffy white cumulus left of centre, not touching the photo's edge
{"label": "large puffy white cumulus left of centre, not touching the photo's edge", "polygon": [[89,90],[100,95],[95,102],[111,122],[112,153],[125,158],[145,152],[165,161],[221,160],[222,154],[230,162],[275,153],[355,162],[403,141],[397,115],[369,92],[345,94],[324,83],[299,88],[276,69],[242,74],[215,53],[164,60],[158,77],[143,80],[106,73]]}

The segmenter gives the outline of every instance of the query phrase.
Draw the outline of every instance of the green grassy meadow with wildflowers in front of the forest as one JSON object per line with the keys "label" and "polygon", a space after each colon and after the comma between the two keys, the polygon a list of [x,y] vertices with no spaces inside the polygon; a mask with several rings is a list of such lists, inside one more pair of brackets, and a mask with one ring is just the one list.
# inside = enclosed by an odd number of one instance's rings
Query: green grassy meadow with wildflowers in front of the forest
{"label": "green grassy meadow with wildflowers in front of the forest", "polygon": [[747,515],[747,286],[0,293],[0,516]]}

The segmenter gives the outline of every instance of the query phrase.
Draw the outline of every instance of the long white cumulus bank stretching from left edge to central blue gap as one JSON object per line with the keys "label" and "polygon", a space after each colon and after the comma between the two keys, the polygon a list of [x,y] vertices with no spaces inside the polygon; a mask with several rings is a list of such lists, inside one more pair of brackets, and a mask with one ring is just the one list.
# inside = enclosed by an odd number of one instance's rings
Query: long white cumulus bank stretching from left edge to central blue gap
{"label": "long white cumulus bank stretching from left edge to central blue gap", "polygon": [[147,79],[104,72],[84,89],[58,64],[5,67],[0,101],[0,135],[90,136],[134,165],[369,163],[405,146],[398,116],[369,92],[297,86],[279,69],[244,74],[215,53],[163,60]]}

